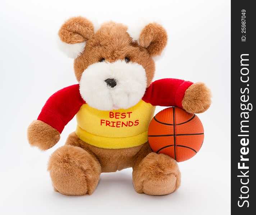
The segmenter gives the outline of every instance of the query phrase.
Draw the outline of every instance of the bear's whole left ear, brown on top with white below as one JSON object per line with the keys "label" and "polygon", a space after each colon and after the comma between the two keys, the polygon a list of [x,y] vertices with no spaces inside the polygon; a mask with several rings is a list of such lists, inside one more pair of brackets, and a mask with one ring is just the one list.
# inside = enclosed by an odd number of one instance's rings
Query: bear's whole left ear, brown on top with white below
{"label": "bear's whole left ear, brown on top with white below", "polygon": [[86,40],[94,35],[90,20],[77,16],[68,19],[58,32],[58,46],[68,57],[77,58],[83,52]]}

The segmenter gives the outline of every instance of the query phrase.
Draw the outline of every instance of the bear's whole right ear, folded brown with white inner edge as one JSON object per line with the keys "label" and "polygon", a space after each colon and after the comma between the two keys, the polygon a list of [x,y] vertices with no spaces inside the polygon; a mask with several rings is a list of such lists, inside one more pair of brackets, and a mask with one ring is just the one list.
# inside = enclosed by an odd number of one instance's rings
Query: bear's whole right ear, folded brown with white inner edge
{"label": "bear's whole right ear, folded brown with white inner edge", "polygon": [[167,44],[166,30],[155,22],[137,28],[128,28],[127,33],[139,45],[146,48],[152,57],[160,55]]}

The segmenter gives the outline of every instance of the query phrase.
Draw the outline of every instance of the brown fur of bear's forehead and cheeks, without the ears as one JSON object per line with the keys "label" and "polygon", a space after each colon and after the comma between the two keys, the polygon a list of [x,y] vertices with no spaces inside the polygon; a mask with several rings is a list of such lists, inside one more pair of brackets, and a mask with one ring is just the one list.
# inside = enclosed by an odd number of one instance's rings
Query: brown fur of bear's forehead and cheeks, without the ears
{"label": "brown fur of bear's forehead and cheeks, without the ears", "polygon": [[84,52],[75,59],[74,71],[79,81],[83,71],[101,58],[114,62],[129,57],[131,62],[143,66],[147,76],[147,86],[154,78],[155,63],[147,49],[132,42],[132,38],[126,32],[127,26],[114,22],[108,22],[101,26],[95,35],[88,39]]}

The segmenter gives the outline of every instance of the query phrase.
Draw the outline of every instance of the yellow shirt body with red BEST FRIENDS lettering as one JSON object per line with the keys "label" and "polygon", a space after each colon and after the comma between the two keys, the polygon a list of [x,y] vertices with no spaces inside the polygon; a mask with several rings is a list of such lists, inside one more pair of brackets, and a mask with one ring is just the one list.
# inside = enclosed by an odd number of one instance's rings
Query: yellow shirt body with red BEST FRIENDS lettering
{"label": "yellow shirt body with red BEST FRIENDS lettering", "polygon": [[147,142],[155,106],[141,100],[128,109],[101,111],[83,104],[77,113],[77,136],[99,148],[130,148]]}

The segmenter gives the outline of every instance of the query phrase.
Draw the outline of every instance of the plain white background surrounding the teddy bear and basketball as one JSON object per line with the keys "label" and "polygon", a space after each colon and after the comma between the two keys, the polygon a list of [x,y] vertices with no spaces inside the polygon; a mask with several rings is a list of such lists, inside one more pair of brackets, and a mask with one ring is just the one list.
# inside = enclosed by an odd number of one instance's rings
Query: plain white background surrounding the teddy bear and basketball
{"label": "plain white background surrounding the teddy bear and basketball", "polygon": [[[76,15],[99,23],[159,20],[169,43],[156,62],[155,80],[174,77],[211,88],[212,106],[198,114],[204,145],[179,163],[177,192],[137,194],[131,168],[102,174],[91,196],[52,190],[48,158],[74,131],[76,119],[46,152],[29,146],[26,129],[51,94],[77,83],[73,60],[55,44],[60,25]],[[230,1],[1,0],[0,46],[0,214],[230,213]]]}

